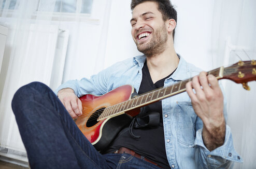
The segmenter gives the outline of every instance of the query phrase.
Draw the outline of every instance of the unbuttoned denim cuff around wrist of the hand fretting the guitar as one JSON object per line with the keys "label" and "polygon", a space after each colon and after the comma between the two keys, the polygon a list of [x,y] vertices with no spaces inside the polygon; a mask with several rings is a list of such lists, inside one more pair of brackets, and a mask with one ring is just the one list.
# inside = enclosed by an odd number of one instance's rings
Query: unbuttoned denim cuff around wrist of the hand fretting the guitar
{"label": "unbuttoned denim cuff around wrist of the hand fretting the guitar", "polygon": [[203,129],[199,129],[196,131],[195,145],[200,146],[201,150],[204,151],[205,155],[207,155],[208,157],[219,156],[226,160],[231,160],[240,163],[243,162],[243,159],[239,156],[239,154],[236,152],[234,148],[232,133],[229,126],[226,125],[224,144],[212,151],[209,151],[204,145],[202,130]]}

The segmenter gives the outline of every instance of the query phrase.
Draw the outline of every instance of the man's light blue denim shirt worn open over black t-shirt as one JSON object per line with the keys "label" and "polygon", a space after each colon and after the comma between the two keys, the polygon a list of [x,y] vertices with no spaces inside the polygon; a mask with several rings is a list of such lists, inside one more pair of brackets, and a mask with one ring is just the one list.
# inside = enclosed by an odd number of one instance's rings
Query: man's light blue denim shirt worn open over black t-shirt
{"label": "man's light blue denim shirt worn open over black t-shirt", "polygon": [[[126,59],[93,75],[91,79],[69,80],[56,91],[72,88],[80,97],[84,94],[103,95],[123,85],[139,90],[144,55]],[[164,87],[198,75],[200,69],[180,57],[177,70],[164,81]],[[231,161],[243,162],[236,153],[230,127],[226,125],[225,142],[209,151],[202,138],[202,120],[195,114],[187,92],[162,100],[166,155],[172,168],[230,168]],[[224,102],[226,117],[226,103]]]}

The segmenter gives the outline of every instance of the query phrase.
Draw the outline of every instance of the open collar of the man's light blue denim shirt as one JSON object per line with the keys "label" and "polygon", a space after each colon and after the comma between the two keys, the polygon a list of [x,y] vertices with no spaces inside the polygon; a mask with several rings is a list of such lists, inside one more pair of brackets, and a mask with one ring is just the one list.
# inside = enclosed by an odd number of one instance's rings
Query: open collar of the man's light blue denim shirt
{"label": "open collar of the man's light blue denim shirt", "polygon": [[[170,76],[167,79],[172,78],[174,80],[185,80],[185,79],[189,78],[188,77],[188,63],[179,54],[177,54],[177,55],[180,59],[178,67],[177,67],[176,71],[172,74],[172,76]],[[142,67],[145,63],[145,60],[146,60],[145,55],[139,55],[139,56],[136,56],[133,58],[133,64],[134,65],[139,64],[139,66],[142,69]]]}

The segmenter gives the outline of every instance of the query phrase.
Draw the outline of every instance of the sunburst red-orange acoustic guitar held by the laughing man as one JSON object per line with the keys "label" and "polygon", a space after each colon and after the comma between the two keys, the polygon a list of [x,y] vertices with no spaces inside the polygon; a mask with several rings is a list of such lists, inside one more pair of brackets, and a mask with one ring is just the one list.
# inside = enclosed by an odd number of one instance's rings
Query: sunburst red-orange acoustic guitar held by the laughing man
{"label": "sunburst red-orange acoustic guitar held by the laughing man", "polygon": [[[247,82],[256,80],[256,61],[239,61],[207,73],[218,80],[230,79],[242,83],[246,90],[250,90]],[[121,86],[102,96],[84,95],[80,97],[82,115],[75,123],[97,150],[103,150],[139,114],[141,107],[186,91],[186,83],[191,80],[192,78],[183,80],[135,97],[132,97],[134,89],[130,85]]]}

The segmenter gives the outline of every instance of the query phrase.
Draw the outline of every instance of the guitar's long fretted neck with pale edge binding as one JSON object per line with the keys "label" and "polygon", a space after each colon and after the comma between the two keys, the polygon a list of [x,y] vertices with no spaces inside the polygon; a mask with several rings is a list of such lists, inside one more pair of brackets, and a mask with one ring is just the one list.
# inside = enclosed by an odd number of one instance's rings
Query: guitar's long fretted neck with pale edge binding
{"label": "guitar's long fretted neck with pale edge binding", "polygon": [[[223,71],[224,71],[224,67],[222,66],[222,67],[219,67],[218,69],[207,72],[207,74],[212,74],[216,76],[217,79],[221,79],[223,77]],[[140,107],[149,105],[151,103],[158,102],[159,100],[162,100],[164,98],[182,93],[186,91],[186,83],[188,83],[192,79],[193,78],[179,81],[174,85],[162,87],[162,88],[141,94],[139,96],[126,100],[125,102],[119,103],[117,105],[107,107],[103,111],[103,113],[98,117],[98,121],[107,119],[108,117],[117,116],[117,115],[123,114],[126,111],[140,108]]]}

